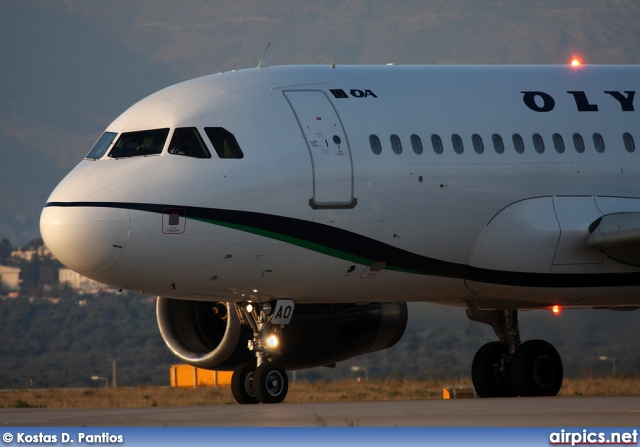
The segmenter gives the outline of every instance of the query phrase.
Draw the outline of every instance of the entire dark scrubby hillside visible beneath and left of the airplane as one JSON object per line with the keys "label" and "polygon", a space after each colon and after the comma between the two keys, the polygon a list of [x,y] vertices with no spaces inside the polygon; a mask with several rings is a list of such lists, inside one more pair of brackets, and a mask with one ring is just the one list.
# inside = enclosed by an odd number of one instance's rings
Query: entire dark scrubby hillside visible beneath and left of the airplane
{"label": "entire dark scrubby hillside visible beneath and left of the airplane", "polygon": [[[637,315],[633,312],[524,312],[523,339],[544,338],[563,357],[569,377],[607,376],[616,358],[619,375],[640,370]],[[133,293],[19,298],[0,301],[0,389],[96,386],[117,362],[119,386],[168,385],[176,359],[155,320],[155,299]],[[470,323],[461,309],[411,304],[409,327],[395,347],[338,364],[297,373],[299,379],[446,379],[470,376],[476,349],[495,339],[491,329]],[[359,366],[354,373],[352,366]],[[31,382],[30,383],[30,378]]]}

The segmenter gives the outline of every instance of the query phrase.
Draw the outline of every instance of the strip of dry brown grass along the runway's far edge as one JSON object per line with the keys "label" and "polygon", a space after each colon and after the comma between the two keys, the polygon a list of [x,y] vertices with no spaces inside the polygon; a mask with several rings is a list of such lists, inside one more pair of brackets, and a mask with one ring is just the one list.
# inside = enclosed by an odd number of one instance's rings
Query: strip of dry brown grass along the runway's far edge
{"label": "strip of dry brown grass along the runway's far edge", "polygon": [[[442,399],[442,388],[470,386],[470,381],[297,382],[285,402],[347,402]],[[565,379],[561,396],[640,395],[640,378]],[[134,408],[235,404],[229,387],[88,388],[0,392],[0,408]]]}

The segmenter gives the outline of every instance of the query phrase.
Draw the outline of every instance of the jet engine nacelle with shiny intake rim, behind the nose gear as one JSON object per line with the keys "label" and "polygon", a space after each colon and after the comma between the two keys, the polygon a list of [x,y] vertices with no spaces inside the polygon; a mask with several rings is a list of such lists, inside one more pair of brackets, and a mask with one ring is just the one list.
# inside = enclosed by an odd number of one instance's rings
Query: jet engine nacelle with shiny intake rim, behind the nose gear
{"label": "jet engine nacelle with shiny intake rim, behind the nose gear", "polygon": [[[156,313],[162,338],[185,363],[230,371],[255,360],[247,348],[253,333],[233,303],[159,297]],[[325,366],[389,348],[406,326],[405,303],[296,304],[274,359],[286,369]]]}

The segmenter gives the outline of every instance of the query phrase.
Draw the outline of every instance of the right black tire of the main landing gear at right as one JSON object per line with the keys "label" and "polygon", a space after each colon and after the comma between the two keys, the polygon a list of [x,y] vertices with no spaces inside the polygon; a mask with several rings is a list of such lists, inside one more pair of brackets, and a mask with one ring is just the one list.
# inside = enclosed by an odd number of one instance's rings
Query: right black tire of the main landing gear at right
{"label": "right black tire of the main landing gear at right", "polygon": [[544,340],[528,340],[511,359],[511,382],[519,396],[555,396],[562,387],[562,359]]}

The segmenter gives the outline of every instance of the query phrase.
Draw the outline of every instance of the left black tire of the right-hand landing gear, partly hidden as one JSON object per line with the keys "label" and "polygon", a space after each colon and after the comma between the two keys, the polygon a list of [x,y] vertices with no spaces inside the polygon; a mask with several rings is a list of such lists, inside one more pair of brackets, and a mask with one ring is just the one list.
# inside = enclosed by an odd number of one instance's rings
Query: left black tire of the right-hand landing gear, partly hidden
{"label": "left black tire of the right-hand landing gear, partly hidden", "polygon": [[515,397],[516,392],[508,377],[498,371],[502,357],[500,342],[492,341],[478,349],[471,364],[471,380],[479,397]]}

